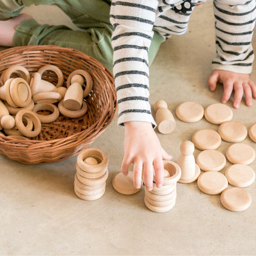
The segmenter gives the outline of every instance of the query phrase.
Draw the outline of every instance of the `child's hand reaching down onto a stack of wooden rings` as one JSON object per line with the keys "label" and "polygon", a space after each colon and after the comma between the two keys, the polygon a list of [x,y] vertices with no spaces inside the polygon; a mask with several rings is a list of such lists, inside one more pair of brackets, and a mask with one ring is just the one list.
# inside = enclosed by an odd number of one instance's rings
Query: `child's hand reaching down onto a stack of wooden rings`
{"label": "child's hand reaching down onto a stack of wooden rings", "polygon": [[147,190],[151,190],[153,187],[153,170],[155,170],[157,188],[163,185],[163,159],[170,160],[171,156],[161,147],[150,122],[125,122],[124,151],[121,170],[124,175],[127,175],[129,166],[134,164],[134,185],[136,188],[141,186],[142,171]]}

